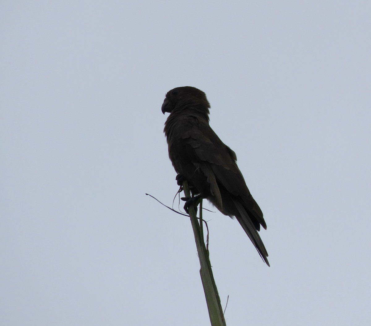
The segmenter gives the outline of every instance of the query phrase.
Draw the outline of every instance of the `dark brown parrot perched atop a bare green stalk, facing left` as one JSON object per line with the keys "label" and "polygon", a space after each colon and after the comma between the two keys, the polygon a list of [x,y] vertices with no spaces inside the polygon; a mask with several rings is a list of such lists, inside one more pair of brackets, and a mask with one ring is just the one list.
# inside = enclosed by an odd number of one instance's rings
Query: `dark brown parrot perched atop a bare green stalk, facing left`
{"label": "dark brown parrot perched atop a bare green stalk, facing left", "polygon": [[170,112],[164,132],[178,184],[186,180],[196,195],[187,198],[184,209],[188,212],[189,205],[206,198],[224,215],[235,216],[269,266],[257,233],[260,225],[267,228],[263,213],[237,167],[236,154],[211,129],[209,108],[205,93],[190,86],[170,90],[161,108]]}

